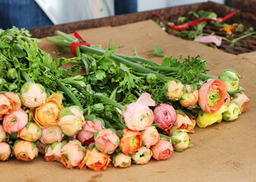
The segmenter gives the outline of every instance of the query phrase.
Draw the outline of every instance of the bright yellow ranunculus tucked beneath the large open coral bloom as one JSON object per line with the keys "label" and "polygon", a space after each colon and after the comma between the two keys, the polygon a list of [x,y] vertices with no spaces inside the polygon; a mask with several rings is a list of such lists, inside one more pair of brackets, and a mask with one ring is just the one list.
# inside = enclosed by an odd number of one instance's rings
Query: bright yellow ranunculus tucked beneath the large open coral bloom
{"label": "bright yellow ranunculus tucked beneath the large open coral bloom", "polygon": [[222,113],[227,111],[228,106],[223,105],[218,111],[214,113],[199,111],[196,119],[198,127],[207,127],[210,124],[220,123],[223,119]]}

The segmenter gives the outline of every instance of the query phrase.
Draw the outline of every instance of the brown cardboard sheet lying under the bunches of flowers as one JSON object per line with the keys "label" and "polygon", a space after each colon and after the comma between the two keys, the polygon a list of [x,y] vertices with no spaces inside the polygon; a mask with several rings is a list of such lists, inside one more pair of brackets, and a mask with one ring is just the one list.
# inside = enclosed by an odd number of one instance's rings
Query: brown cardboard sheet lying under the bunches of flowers
{"label": "brown cardboard sheet lying under the bunches of flowers", "polygon": [[[116,53],[132,55],[137,48],[141,57],[160,63],[163,58],[146,56],[153,51],[153,45],[163,49],[164,55],[196,56],[207,60],[209,74],[219,75],[225,69],[234,69],[243,78],[240,85],[251,100],[251,105],[239,119],[223,121],[189,134],[194,144],[184,152],[174,152],[165,160],[151,159],[147,165],[132,165],[130,168],[107,168],[106,171],[68,170],[58,162],[46,162],[41,155],[33,162],[22,162],[11,158],[0,163],[0,181],[256,181],[256,122],[254,110],[256,102],[255,59],[242,55],[230,55],[198,42],[186,41],[165,33],[151,20],[120,27],[103,27],[79,31],[81,36],[94,45],[112,45],[122,48]],[[55,55],[59,49],[54,43],[43,42],[40,47]],[[66,54],[66,57],[72,56]]]}

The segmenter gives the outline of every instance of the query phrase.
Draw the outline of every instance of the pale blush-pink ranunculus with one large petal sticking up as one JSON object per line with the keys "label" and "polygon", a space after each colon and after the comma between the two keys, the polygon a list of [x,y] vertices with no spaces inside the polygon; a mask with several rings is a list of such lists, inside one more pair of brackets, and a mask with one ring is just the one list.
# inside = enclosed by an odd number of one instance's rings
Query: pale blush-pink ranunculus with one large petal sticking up
{"label": "pale blush-pink ranunculus with one large petal sticking up", "polygon": [[156,103],[150,98],[149,93],[142,93],[136,102],[126,105],[126,110],[122,111],[125,125],[130,130],[145,130],[153,123],[153,111],[148,106]]}

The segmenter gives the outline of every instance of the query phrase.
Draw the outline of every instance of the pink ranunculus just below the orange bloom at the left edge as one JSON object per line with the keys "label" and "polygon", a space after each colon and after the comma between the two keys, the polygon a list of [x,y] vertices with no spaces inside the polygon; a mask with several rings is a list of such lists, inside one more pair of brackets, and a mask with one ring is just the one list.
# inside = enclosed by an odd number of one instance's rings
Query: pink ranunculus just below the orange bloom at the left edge
{"label": "pink ranunculus just below the orange bloom at the left edge", "polygon": [[27,113],[22,108],[19,108],[11,114],[5,115],[3,126],[7,133],[12,133],[24,128],[27,125],[27,122]]}

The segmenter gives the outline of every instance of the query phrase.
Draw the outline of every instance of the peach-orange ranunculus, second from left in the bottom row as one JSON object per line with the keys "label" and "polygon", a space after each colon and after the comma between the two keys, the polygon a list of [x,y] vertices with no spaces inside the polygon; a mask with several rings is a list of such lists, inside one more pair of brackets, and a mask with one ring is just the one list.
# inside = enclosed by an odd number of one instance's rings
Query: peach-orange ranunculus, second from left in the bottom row
{"label": "peach-orange ranunculus, second from left in the bottom row", "polygon": [[14,143],[14,155],[18,160],[32,161],[38,155],[35,143],[24,140],[17,140]]}

